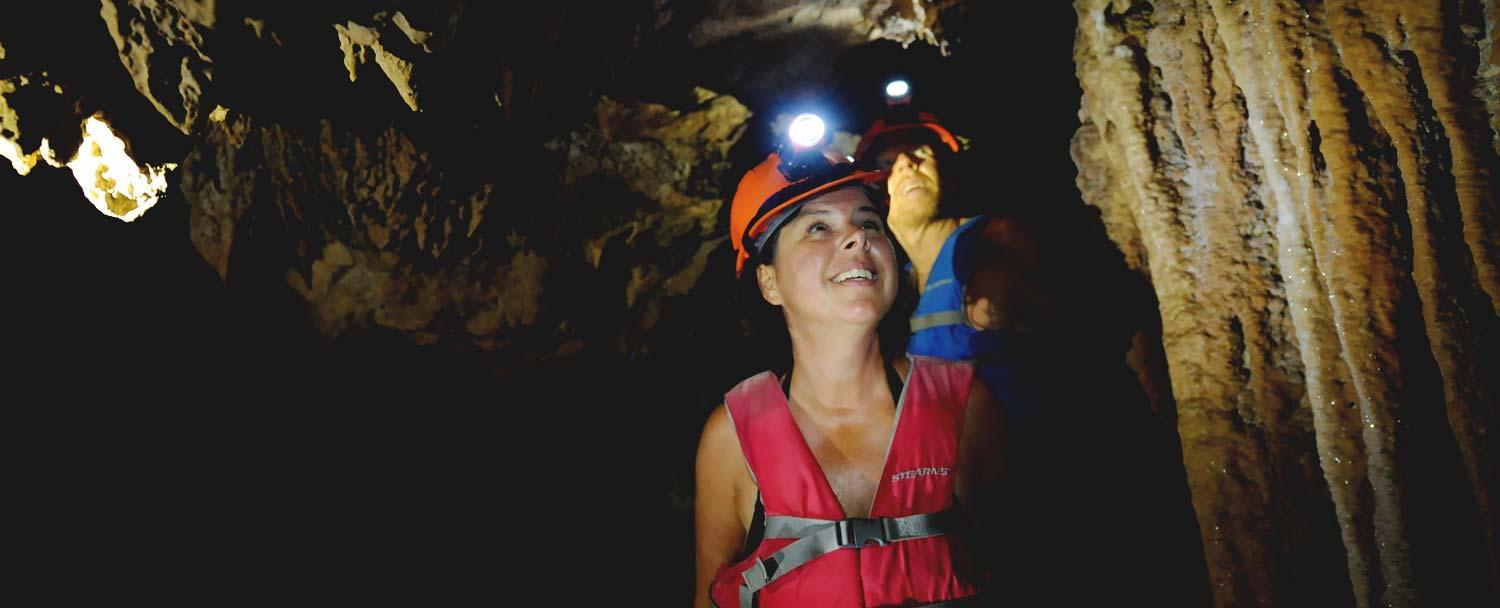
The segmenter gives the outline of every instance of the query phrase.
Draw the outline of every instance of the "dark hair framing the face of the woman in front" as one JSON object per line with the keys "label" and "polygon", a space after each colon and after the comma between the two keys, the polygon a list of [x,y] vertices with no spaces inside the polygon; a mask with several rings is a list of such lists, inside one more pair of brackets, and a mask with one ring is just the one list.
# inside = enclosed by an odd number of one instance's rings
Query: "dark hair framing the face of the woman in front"
{"label": "dark hair framing the face of the woman in front", "polygon": [[[870,200],[879,200],[873,192],[876,186],[862,185],[860,188],[870,195]],[[782,225],[790,224],[790,219],[788,218]],[[772,306],[760,297],[760,284],[756,279],[754,269],[756,266],[774,261],[776,245],[780,242],[780,237],[782,230],[777,228],[766,237],[760,251],[756,251],[750,257],[746,270],[740,275],[740,288],[736,290],[740,311],[750,332],[750,348],[754,360],[766,362],[766,366],[777,374],[792,369],[792,336],[786,327],[786,317],[782,315],[780,306]],[[896,302],[891,303],[891,309],[886,311],[876,327],[876,336],[880,339],[880,354],[885,359],[906,353],[906,342],[912,333],[910,317],[916,311],[916,285],[912,282],[910,272],[906,270],[906,251],[896,242],[896,237],[891,237],[891,245],[896,251],[896,269],[898,273]]]}

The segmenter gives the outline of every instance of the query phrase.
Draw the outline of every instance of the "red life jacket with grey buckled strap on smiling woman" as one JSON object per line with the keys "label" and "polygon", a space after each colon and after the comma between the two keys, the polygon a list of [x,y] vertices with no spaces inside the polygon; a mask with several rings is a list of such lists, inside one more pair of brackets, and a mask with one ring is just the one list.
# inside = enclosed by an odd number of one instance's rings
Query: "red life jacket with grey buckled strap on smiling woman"
{"label": "red life jacket with grey buckled strap on smiling woman", "polygon": [[968,549],[948,533],[960,519],[954,474],[974,368],[910,360],[868,519],[844,515],[776,375],[724,395],[766,518],[754,552],[718,570],[714,605],[946,606],[975,597]]}

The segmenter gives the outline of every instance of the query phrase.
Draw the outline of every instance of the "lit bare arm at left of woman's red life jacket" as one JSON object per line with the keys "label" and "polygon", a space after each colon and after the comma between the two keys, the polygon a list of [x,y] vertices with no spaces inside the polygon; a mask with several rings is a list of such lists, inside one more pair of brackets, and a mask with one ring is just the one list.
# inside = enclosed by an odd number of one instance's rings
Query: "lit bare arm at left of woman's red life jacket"
{"label": "lit bare arm at left of woman's red life jacket", "polygon": [[[752,485],[740,438],[724,407],[716,407],[704,423],[698,443],[698,489],[693,500],[693,531],[696,534],[698,576],[693,606],[706,608],[708,587],[718,569],[744,548],[748,522],[742,521],[740,503],[746,486]],[[752,489],[753,491],[753,489]]]}

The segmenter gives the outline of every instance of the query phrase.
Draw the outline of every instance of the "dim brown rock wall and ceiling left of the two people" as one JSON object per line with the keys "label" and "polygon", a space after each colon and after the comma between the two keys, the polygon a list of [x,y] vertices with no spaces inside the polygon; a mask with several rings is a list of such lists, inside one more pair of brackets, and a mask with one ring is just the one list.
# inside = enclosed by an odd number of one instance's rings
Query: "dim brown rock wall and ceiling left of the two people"
{"label": "dim brown rock wall and ceiling left of the two people", "polygon": [[[728,251],[730,152],[766,137],[740,98],[826,89],[872,39],[938,42],[952,5],[36,6],[0,27],[0,146],[30,168],[104,116],[136,161],[182,167],[220,278],[284,284],[324,339],[628,356]],[[80,53],[51,53],[66,36]]]}

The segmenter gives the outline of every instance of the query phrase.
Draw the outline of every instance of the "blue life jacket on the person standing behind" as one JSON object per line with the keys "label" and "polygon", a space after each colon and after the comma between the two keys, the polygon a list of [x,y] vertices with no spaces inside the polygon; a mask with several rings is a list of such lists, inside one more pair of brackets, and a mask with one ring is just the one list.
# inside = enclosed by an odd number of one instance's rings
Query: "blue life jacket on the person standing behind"
{"label": "blue life jacket on the person standing behind", "polygon": [[982,215],[969,218],[944,242],[912,314],[912,339],[906,351],[974,363],[975,375],[1005,408],[1006,422],[1024,423],[1040,399],[1040,381],[1028,374],[1029,366],[1040,363],[1028,357],[1036,350],[1032,336],[1026,332],[975,329],[963,308],[963,291],[974,276],[974,251],[976,242],[984,239],[984,222]]}

